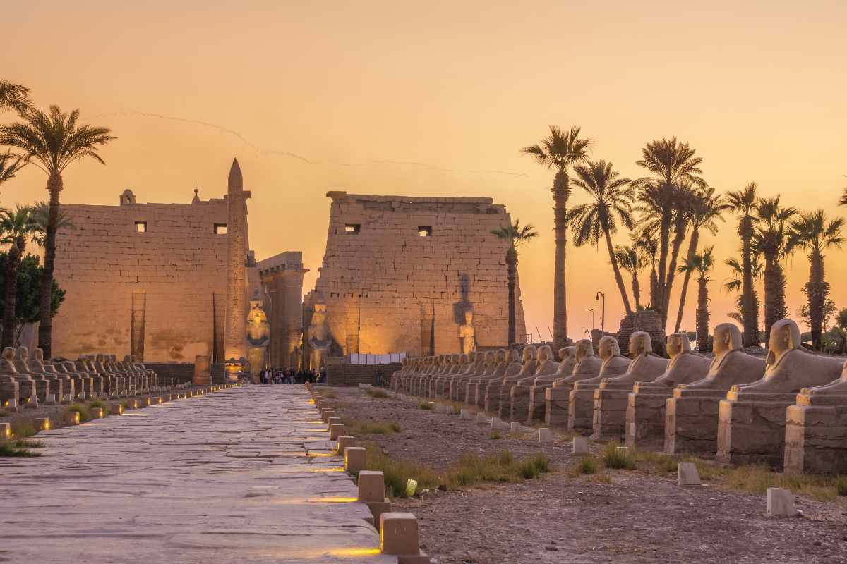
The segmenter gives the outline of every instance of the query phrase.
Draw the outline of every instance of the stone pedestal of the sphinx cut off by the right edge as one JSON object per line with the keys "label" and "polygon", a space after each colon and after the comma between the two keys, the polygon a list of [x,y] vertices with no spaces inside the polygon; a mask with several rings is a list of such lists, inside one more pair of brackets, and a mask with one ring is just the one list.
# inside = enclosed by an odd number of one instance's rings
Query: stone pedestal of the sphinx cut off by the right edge
{"label": "stone pedestal of the sphinx cut off by the right edge", "polygon": [[847,402],[792,405],[785,421],[785,472],[847,474]]}

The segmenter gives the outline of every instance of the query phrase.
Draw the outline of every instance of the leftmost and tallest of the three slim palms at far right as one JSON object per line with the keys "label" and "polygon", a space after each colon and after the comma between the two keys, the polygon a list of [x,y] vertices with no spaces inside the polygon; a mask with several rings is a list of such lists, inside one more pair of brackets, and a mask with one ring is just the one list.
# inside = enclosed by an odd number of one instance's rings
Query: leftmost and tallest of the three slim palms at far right
{"label": "leftmost and tallest of the three slim palms at far right", "polygon": [[741,238],[741,317],[744,331],[741,341],[745,347],[759,344],[759,306],[756,304],[752,271],[752,240],[756,233],[756,183],[727,193],[729,209],[739,216],[738,234]]}

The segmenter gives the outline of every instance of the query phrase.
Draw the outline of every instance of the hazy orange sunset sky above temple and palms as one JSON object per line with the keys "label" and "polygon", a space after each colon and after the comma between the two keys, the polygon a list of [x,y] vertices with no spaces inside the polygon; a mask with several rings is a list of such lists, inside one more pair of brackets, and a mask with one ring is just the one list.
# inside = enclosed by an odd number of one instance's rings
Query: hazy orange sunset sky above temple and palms
{"label": "hazy orange sunset sky above temple and palms", "polygon": [[[580,125],[595,158],[631,178],[647,141],[676,135],[717,189],[755,180],[786,204],[847,212],[834,205],[847,185],[844,2],[123,4],[3,8],[0,76],[29,85],[38,106],[80,107],[83,121],[119,136],[102,151],[107,167],[69,169],[64,201],[116,205],[129,187],[139,202],[188,202],[195,181],[203,198],[220,197],[238,156],[252,249],[259,259],[302,250],[306,289],[324,253],[328,189],[492,196],[539,227],[520,274],[527,328],[549,337],[552,173],[519,148],[550,123]],[[44,187],[30,167],[0,205],[46,199]],[[721,263],[734,232],[728,218],[705,237]],[[839,307],[844,252],[827,262]],[[617,330],[623,306],[607,261],[602,248],[568,250],[571,337],[597,289],[609,298],[606,329]],[[788,270],[793,315],[807,260],[794,256]],[[734,309],[719,289],[727,277],[721,264],[713,323]]]}

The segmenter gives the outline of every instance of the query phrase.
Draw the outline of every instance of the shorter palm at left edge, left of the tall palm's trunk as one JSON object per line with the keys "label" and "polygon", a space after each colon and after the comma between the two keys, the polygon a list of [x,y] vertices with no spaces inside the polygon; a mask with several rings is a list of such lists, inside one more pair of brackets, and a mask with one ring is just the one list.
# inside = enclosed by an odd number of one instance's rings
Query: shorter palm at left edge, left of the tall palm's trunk
{"label": "shorter palm at left edge, left of the tall palm's trunk", "polygon": [[6,309],[3,310],[3,339],[0,347],[14,347],[15,302],[18,294],[18,267],[24,258],[26,239],[36,231],[30,208],[17,206],[14,211],[0,211],[0,244],[8,244],[6,261]]}

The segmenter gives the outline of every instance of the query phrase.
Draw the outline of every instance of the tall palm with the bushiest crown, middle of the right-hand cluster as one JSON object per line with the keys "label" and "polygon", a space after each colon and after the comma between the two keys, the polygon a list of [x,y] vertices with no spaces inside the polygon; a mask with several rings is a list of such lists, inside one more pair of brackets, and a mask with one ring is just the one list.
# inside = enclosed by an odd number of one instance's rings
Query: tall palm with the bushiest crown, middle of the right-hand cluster
{"label": "tall palm with the bushiest crown, middle of the right-hand cluster", "polygon": [[673,286],[673,268],[668,267],[671,236],[673,234],[675,238],[684,237],[684,232],[673,229],[674,223],[677,227],[684,226],[682,217],[677,216],[677,221],[674,222],[674,214],[679,210],[681,189],[706,185],[700,177],[703,173],[700,170],[703,159],[695,156],[695,150],[688,143],[680,143],[676,137],[650,141],[641,150],[641,155],[641,160],[635,164],[647,169],[650,176],[638,178],[634,181],[634,186],[639,189],[639,210],[645,219],[656,219],[659,224],[659,258],[656,272],[658,300],[653,307],[662,314],[662,322],[666,323],[667,303]]}

